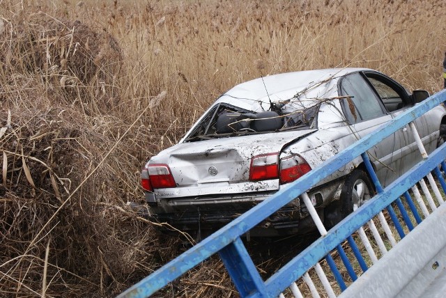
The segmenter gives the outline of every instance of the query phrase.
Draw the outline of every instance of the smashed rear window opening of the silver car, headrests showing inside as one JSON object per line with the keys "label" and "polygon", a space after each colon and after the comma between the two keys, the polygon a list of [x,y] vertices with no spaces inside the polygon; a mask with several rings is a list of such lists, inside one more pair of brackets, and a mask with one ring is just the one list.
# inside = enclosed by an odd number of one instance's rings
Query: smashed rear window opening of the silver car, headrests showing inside
{"label": "smashed rear window opening of the silver car, headrests showing inside", "polygon": [[185,141],[314,128],[319,106],[303,107],[295,102],[272,103],[270,111],[255,113],[231,104],[216,104]]}

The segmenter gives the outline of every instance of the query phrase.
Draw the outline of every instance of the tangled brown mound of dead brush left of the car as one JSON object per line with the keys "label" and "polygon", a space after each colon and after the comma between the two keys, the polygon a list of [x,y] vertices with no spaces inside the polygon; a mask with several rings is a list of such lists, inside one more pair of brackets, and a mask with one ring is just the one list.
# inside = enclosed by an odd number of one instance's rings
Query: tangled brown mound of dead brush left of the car
{"label": "tangled brown mound of dead brush left of the car", "polygon": [[113,113],[121,49],[43,14],[0,33],[0,292],[116,294],[164,258],[125,204],[141,197],[133,144],[147,136]]}

